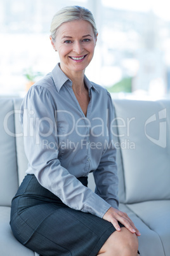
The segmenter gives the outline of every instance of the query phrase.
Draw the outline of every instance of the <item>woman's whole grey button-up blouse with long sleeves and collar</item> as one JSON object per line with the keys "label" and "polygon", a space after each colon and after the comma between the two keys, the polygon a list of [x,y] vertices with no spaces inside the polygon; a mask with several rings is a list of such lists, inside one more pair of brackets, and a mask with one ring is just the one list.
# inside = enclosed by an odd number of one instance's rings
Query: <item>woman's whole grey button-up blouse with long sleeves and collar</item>
{"label": "woman's whole grey button-up blouse with long sleeves and collar", "polygon": [[[86,117],[60,64],[30,88],[20,111],[26,173],[70,208],[102,218],[110,206],[118,208],[114,109],[106,89],[86,76],[84,82],[90,97]],[[89,172],[95,192],[77,180]]]}

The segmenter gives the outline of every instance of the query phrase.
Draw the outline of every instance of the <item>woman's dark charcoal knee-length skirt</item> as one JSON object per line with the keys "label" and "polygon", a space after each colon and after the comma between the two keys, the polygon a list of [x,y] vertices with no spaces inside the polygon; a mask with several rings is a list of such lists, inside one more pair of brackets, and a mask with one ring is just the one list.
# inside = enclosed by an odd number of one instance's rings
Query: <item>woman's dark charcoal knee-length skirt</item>
{"label": "woman's dark charcoal knee-length skirt", "polygon": [[[87,186],[87,178],[79,180]],[[63,204],[30,174],[13,198],[10,225],[20,243],[44,256],[96,256],[115,231],[110,222]]]}

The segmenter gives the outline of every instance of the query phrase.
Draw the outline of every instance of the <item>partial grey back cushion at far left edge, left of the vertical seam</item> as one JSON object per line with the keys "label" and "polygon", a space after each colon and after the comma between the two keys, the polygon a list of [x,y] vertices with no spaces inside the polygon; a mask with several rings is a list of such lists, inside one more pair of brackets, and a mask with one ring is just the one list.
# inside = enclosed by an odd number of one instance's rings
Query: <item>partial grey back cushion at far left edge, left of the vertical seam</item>
{"label": "partial grey back cushion at far left edge, left of the vertical seam", "polygon": [[10,206],[18,188],[13,100],[0,100],[0,205]]}

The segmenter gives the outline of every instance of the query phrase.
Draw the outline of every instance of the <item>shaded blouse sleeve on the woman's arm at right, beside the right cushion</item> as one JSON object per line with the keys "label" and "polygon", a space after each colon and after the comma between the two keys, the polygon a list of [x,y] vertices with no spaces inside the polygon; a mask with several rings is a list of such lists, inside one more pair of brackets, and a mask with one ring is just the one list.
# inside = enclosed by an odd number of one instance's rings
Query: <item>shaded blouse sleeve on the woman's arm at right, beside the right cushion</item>
{"label": "shaded blouse sleeve on the woman's arm at right, beside the right cushion", "polygon": [[105,143],[105,151],[101,156],[100,164],[93,172],[93,175],[96,183],[96,194],[107,201],[112,207],[118,208],[118,178],[115,162],[116,149],[114,148],[114,140],[112,138],[112,120],[114,120],[114,107],[110,94],[108,94],[108,141]]}

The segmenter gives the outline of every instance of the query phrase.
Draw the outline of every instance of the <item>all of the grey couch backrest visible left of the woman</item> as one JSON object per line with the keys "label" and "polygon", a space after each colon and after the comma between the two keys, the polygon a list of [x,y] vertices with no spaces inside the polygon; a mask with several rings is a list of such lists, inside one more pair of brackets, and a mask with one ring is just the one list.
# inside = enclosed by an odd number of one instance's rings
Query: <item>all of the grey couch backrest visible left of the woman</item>
{"label": "all of the grey couch backrest visible left of the woman", "polygon": [[27,169],[18,118],[21,103],[22,99],[0,99],[0,205],[3,206],[11,205]]}

